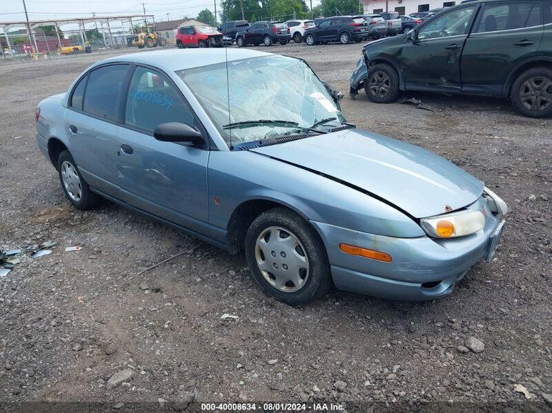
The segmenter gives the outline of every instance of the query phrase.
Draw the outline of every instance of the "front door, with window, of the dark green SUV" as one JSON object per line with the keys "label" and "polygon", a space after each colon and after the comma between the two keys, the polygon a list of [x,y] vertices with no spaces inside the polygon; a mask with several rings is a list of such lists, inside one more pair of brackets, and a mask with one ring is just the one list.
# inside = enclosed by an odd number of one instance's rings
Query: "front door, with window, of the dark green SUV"
{"label": "front door, with window, of the dark green SUV", "polygon": [[446,12],[406,40],[400,58],[406,89],[460,90],[460,56],[477,7]]}

